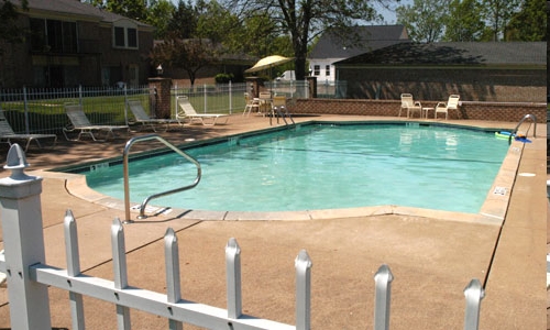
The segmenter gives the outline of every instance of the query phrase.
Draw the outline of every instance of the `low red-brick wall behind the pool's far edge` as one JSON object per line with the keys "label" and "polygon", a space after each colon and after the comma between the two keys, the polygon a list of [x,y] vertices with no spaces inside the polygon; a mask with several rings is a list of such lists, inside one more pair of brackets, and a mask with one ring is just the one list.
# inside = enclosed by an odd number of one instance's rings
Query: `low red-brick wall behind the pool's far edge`
{"label": "low red-brick wall behind the pool's far edge", "polygon": [[[422,107],[433,108],[440,101],[420,100]],[[297,99],[289,107],[296,114],[360,114],[397,117],[400,100],[364,100],[364,99]],[[530,102],[475,102],[462,101],[460,111],[449,111],[449,119],[470,119],[488,121],[518,122],[526,114],[535,114],[538,122],[542,122],[547,113],[546,103]],[[406,117],[404,111],[402,117]],[[459,116],[459,117],[457,117]],[[433,118],[433,111],[430,111]],[[444,119],[444,116],[440,114]]]}

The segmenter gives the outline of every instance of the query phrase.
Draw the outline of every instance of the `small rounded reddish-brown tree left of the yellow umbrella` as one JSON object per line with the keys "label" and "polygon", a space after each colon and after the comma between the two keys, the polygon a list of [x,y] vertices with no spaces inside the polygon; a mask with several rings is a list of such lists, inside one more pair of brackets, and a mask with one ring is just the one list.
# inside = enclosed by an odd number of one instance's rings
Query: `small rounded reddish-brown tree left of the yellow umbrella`
{"label": "small rounded reddish-brown tree left of the yellow umbrella", "polygon": [[151,55],[154,65],[163,64],[184,69],[189,76],[191,86],[195,85],[197,72],[206,66],[218,63],[217,47],[208,40],[182,40],[177,35],[169,35],[163,43],[155,45]]}

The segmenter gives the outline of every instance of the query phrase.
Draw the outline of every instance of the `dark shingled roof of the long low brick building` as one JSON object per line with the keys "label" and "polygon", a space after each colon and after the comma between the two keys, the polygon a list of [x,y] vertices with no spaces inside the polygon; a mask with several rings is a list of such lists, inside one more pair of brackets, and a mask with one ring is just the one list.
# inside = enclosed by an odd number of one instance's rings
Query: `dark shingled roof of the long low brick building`
{"label": "dark shingled roof of the long low brick building", "polygon": [[546,42],[400,43],[334,63],[369,65],[544,65]]}

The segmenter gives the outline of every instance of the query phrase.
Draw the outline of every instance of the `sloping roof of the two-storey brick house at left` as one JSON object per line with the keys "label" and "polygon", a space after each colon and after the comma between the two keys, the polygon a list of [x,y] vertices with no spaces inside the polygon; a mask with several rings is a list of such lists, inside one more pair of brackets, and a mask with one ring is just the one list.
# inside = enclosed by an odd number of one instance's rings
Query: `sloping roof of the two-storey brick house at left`
{"label": "sloping roof of the two-storey brick house at left", "polygon": [[[87,19],[96,19],[98,21],[102,22],[116,22],[121,19],[127,19],[123,15],[112,13],[107,10],[101,10],[99,8],[96,8],[91,4],[88,3],[82,3],[77,0],[28,0],[29,1],[29,10],[30,13],[33,12],[50,12],[50,13],[58,13],[58,14],[64,14],[64,15],[72,15],[72,16],[80,16],[80,18],[87,18]],[[16,7],[21,8],[21,0],[11,0],[13,4]],[[130,19],[132,20],[132,19]],[[132,20],[135,22],[138,25],[144,28],[144,26],[151,26],[145,23],[141,23],[139,21]]]}

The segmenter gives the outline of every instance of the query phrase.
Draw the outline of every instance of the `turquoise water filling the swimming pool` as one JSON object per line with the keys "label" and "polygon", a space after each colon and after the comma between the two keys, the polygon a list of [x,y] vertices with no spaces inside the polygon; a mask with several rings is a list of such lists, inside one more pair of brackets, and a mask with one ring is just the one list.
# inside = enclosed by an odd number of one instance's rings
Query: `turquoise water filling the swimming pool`
{"label": "turquoise water filling the swimming pool", "polygon": [[[507,153],[493,133],[419,124],[312,124],[186,152],[202,167],[188,191],[151,205],[285,211],[399,205],[479,212]],[[122,165],[95,166],[89,187],[124,198]],[[130,163],[130,199],[186,186],[195,165],[175,153]]]}

